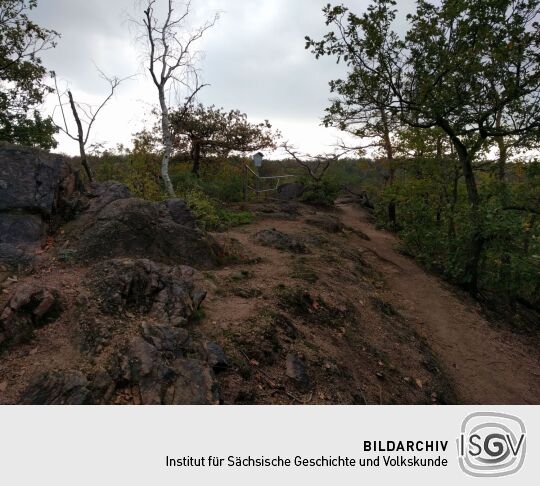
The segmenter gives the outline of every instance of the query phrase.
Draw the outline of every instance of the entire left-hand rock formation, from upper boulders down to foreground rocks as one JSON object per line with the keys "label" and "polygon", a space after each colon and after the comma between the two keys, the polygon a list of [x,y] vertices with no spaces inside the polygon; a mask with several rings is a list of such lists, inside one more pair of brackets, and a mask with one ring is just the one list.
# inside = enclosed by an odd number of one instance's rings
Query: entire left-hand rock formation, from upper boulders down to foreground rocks
{"label": "entire left-hand rock formation, from upper boulders down to foreground rocks", "polygon": [[[0,352],[39,329],[65,353],[14,401],[219,403],[215,373],[227,357],[190,326],[206,297],[192,266],[221,256],[184,201],[137,199],[115,182],[84,187],[65,157],[1,145],[0,284],[10,282]],[[23,267],[25,279],[7,278]],[[51,281],[50,268],[65,280]]]}

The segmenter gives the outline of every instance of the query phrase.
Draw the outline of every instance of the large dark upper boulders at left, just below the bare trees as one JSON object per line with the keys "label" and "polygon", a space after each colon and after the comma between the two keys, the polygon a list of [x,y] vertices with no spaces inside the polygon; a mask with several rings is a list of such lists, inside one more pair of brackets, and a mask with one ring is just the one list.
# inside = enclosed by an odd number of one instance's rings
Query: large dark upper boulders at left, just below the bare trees
{"label": "large dark upper boulders at left, just below the bare trees", "polygon": [[115,182],[84,188],[65,157],[0,145],[0,266],[31,266],[46,236],[67,222],[69,249],[83,262],[149,258],[211,268],[221,257],[184,201],[136,199]]}

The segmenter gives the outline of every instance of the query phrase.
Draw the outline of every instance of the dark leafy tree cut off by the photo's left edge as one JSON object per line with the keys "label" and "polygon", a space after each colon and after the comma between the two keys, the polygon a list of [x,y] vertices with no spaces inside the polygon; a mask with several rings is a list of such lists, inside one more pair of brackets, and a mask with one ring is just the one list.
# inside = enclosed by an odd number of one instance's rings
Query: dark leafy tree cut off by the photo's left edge
{"label": "dark leafy tree cut off by the photo's left edge", "polygon": [[28,18],[37,0],[0,0],[0,140],[56,147],[56,127],[38,111],[51,89],[39,54],[58,34]]}

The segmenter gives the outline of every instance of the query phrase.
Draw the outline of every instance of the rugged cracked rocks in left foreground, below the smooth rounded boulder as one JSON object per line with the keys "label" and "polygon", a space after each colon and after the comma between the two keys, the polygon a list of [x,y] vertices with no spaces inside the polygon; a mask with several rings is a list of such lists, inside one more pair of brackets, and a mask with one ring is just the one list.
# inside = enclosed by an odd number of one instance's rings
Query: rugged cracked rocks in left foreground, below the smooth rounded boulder
{"label": "rugged cracked rocks in left foreground, below the smooth rounded boulder", "polygon": [[[150,260],[115,259],[94,265],[87,273],[87,290],[80,289],[85,316],[70,331],[91,359],[85,356],[64,370],[38,372],[18,403],[218,404],[215,373],[223,371],[228,360],[217,343],[191,331],[192,318],[206,296],[200,282],[193,268]],[[2,319],[31,330],[55,316],[57,303],[57,294],[21,285]],[[86,334],[106,339],[99,348],[89,347],[84,344]],[[74,369],[74,363],[81,369]]]}

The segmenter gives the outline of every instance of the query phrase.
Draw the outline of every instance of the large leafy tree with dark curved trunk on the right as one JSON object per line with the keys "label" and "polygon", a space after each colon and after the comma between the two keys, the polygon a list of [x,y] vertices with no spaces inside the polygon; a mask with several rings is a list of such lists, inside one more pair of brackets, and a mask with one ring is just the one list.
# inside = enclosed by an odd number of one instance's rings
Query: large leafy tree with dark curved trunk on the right
{"label": "large leafy tree with dark curved trunk on the right", "polygon": [[[469,204],[470,234],[463,281],[474,293],[486,243],[474,163],[496,137],[538,138],[540,127],[540,30],[538,0],[417,2],[405,36],[380,25],[396,18],[394,0],[374,0],[363,15],[327,6],[334,30],[316,42],[315,55],[343,59],[347,79],[376,76],[390,90],[386,109],[401,124],[438,127],[461,165]],[[343,95],[350,106],[370,102],[362,83]]]}

